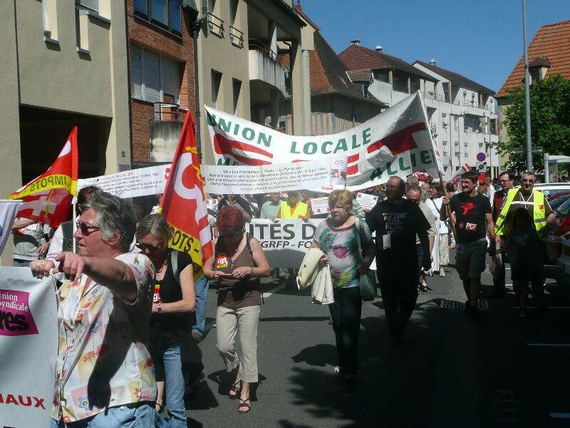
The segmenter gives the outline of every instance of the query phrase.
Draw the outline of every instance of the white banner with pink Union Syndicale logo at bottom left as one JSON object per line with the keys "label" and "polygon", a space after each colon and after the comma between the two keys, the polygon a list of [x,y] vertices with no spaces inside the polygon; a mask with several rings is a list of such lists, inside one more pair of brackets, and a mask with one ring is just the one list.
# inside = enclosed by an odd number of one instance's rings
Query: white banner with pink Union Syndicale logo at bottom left
{"label": "white banner with pink Union Syndicale logo at bottom left", "polygon": [[0,426],[48,427],[58,322],[53,277],[0,267]]}

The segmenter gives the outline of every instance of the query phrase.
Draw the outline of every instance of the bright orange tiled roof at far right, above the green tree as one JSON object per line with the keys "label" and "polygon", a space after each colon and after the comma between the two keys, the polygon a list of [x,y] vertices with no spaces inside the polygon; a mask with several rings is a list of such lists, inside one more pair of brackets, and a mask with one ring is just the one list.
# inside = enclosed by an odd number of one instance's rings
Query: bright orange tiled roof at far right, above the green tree
{"label": "bright orange tiled roof at far right, above the green tree", "polygon": [[[529,62],[542,57],[547,58],[551,64],[546,78],[552,74],[560,73],[570,80],[570,21],[541,26],[529,44]],[[524,56],[503,83],[495,97],[509,96],[507,89],[520,86],[524,81]]]}

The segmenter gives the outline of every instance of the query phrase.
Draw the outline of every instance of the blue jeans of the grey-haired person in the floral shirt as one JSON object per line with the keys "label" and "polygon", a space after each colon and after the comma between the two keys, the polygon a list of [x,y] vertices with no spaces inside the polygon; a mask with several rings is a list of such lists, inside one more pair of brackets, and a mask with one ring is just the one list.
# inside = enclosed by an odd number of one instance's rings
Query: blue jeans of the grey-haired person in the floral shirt
{"label": "blue jeans of the grey-haired person in the floral shirt", "polygon": [[[136,403],[133,403],[136,404]],[[132,404],[109,407],[108,411],[95,414],[94,417],[64,424],[50,418],[50,428],[154,428],[156,410],[148,404],[131,408]],[[186,426],[186,424],[185,424]]]}

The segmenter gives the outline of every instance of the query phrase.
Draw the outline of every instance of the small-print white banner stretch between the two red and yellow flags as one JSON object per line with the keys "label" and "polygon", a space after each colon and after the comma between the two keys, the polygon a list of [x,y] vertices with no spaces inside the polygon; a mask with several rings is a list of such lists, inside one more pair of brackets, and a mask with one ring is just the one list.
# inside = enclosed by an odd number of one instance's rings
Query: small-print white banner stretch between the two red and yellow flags
{"label": "small-print white banner stretch between the two red and yellow flags", "polygon": [[119,198],[158,195],[165,190],[170,165],[149,166],[121,173],[77,180],[77,190],[95,185]]}

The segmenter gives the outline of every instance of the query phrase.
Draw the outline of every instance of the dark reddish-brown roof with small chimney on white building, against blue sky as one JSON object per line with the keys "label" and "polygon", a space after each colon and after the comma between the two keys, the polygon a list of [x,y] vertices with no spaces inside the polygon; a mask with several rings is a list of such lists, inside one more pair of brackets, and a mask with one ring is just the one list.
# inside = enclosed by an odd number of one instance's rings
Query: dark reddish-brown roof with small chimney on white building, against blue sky
{"label": "dark reddish-brown roof with small chimney on white building, against blue sky", "polygon": [[437,82],[437,78],[424,73],[419,68],[411,66],[403,59],[377,52],[364,46],[353,44],[338,54],[338,58],[346,65],[348,70],[375,70],[380,68],[395,68],[427,81]]}

